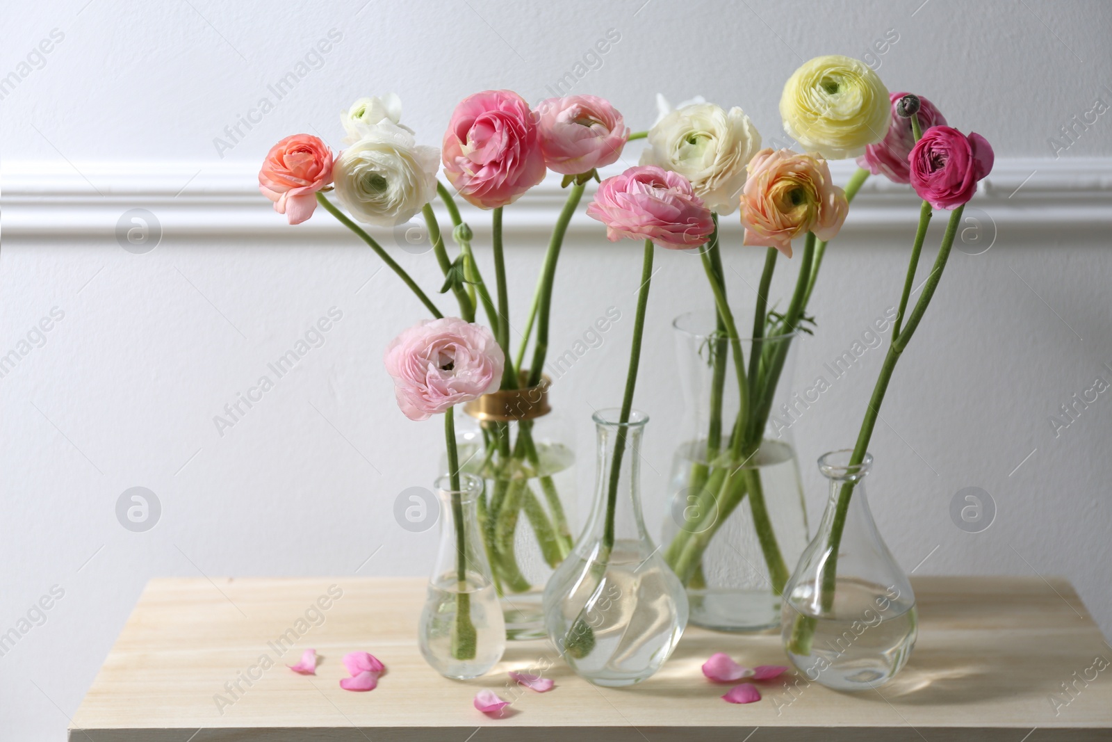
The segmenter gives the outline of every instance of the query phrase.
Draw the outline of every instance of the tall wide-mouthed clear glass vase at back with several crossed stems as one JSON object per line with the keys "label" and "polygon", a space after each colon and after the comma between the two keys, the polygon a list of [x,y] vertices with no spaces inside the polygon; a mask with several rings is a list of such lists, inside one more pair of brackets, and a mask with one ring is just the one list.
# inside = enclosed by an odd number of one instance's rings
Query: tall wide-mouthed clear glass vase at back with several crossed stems
{"label": "tall wide-mouthed clear glass vase at back with several crossed stems", "polygon": [[[737,326],[752,327],[752,319],[738,316]],[[737,377],[716,313],[689,311],[673,327],[685,422],[668,485],[665,558],[687,587],[693,624],[729,632],[778,626],[781,591],[807,545],[792,426],[818,390],[792,385],[796,333],[741,338],[751,388],[754,376],[772,377],[774,390],[749,402],[744,445],[734,447]]]}

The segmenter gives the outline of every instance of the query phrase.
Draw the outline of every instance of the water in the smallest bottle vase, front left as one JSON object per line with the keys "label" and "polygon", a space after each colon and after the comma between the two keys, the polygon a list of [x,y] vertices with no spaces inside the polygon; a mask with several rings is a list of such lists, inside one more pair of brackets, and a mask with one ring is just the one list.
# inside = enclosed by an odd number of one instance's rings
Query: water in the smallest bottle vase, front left
{"label": "water in the smallest bottle vase, front left", "polygon": [[[458,635],[460,629],[456,626],[456,614],[460,600],[469,609],[474,640],[467,636],[470,632],[466,622],[463,639]],[[454,631],[456,636],[453,636]],[[463,584],[456,580],[455,573],[430,581],[417,635],[425,661],[445,677],[466,680],[486,673],[502,659],[506,645],[502,605],[494,585],[489,580],[471,574]],[[473,656],[455,656],[454,645],[460,642],[474,642],[474,653],[464,653]]]}

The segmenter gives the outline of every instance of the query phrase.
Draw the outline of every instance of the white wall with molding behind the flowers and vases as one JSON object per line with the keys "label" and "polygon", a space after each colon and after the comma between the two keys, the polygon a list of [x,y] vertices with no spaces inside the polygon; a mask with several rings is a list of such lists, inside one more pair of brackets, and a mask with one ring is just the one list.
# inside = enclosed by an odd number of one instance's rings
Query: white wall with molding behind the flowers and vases
{"label": "white wall with molding behind the flowers and vases", "polygon": [[[916,574],[1063,574],[1112,632],[1112,403],[1101,395],[1058,436],[1049,422],[1096,376],[1112,379],[1103,365],[1112,365],[1104,300],[1112,160],[1102,159],[1112,156],[1112,125],[1101,116],[1075,128],[1056,161],[1048,142],[1095,98],[1112,100],[1112,7],[308,4],[76,0],[6,9],[0,76],[19,75],[53,29],[63,36],[44,66],[7,92],[0,121],[0,353],[53,307],[64,313],[0,378],[0,632],[52,585],[64,590],[47,622],[0,656],[0,724],[11,739],[60,739],[151,576],[425,571],[434,532],[409,534],[390,513],[401,489],[428,483],[440,429],[403,418],[380,366],[386,342],[420,308],[327,215],[285,226],[252,192],[254,171],[295,131],[338,145],[338,111],[386,90],[401,95],[419,138],[438,144],[459,98],[492,87],[532,101],[547,96],[608,29],[620,41],[575,89],[610,98],[634,128],[652,122],[657,91],[674,101],[703,93],[743,106],[766,138],[784,139],[776,101],[803,58],[864,56],[895,29],[900,40],[877,59],[890,88],[926,95],[952,123],[993,142],[997,169],[971,215],[995,243],[982,255],[966,254],[976,251],[973,241],[954,254],[896,372],[873,438],[872,503],[906,570],[929,557]],[[218,158],[214,138],[334,28],[342,39],[324,67]],[[635,157],[631,148],[627,159]],[[836,169],[843,180],[847,172]],[[558,199],[540,189],[507,210],[518,317]],[[161,243],[146,255],[116,241],[130,208],[161,224]],[[818,332],[801,347],[798,384],[893,304],[915,210],[906,189],[866,187],[824,265],[813,299]],[[483,243],[486,216],[468,218]],[[761,251],[739,247],[734,220],[725,222],[731,289],[745,305]],[[939,231],[936,224],[933,245]],[[620,394],[637,250],[610,245],[580,218],[560,267],[557,353],[607,306],[624,317],[554,393],[574,421],[584,499],[594,466],[588,405]],[[425,286],[438,285],[430,255],[391,251]],[[668,320],[709,299],[697,260],[663,250],[657,258],[637,404],[655,419],[646,457],[665,475],[682,412]],[[489,260],[485,248],[480,259]],[[782,263],[778,296],[794,269]],[[334,306],[344,315],[324,347],[218,435],[212,416]],[[881,357],[866,354],[795,427],[815,518],[826,493],[811,462],[852,444]],[[645,475],[655,530],[663,479]],[[162,505],[147,533],[116,520],[116,502],[132,486]],[[983,533],[951,521],[950,501],[966,486],[996,503]]]}

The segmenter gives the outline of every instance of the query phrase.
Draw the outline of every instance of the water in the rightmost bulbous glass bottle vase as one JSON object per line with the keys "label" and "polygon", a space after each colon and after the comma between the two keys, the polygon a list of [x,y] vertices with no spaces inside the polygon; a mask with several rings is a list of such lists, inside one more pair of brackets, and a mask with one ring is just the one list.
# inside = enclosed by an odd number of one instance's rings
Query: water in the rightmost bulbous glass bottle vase
{"label": "water in the rightmost bulbous glass bottle vase", "polygon": [[[797,606],[814,602],[815,584],[797,584],[784,602],[785,635],[800,621]],[[822,617],[803,613],[813,626],[810,647],[785,644],[792,664],[808,680],[840,691],[868,690],[891,680],[907,662],[917,635],[914,598],[896,586],[840,580],[834,607]],[[810,649],[806,654],[798,651]]]}

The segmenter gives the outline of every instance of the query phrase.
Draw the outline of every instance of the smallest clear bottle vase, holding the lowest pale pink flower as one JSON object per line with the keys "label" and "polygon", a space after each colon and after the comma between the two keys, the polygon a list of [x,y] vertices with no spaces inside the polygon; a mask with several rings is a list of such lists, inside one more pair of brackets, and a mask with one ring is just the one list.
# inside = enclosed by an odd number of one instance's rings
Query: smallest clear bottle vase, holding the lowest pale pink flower
{"label": "smallest clear bottle vase, holding the lowest pale pink flower", "polygon": [[483,536],[478,496],[483,482],[459,475],[459,489],[448,477],[436,482],[440,499],[440,545],[417,641],[425,661],[445,677],[478,677],[502,660],[506,626],[495,593]]}

